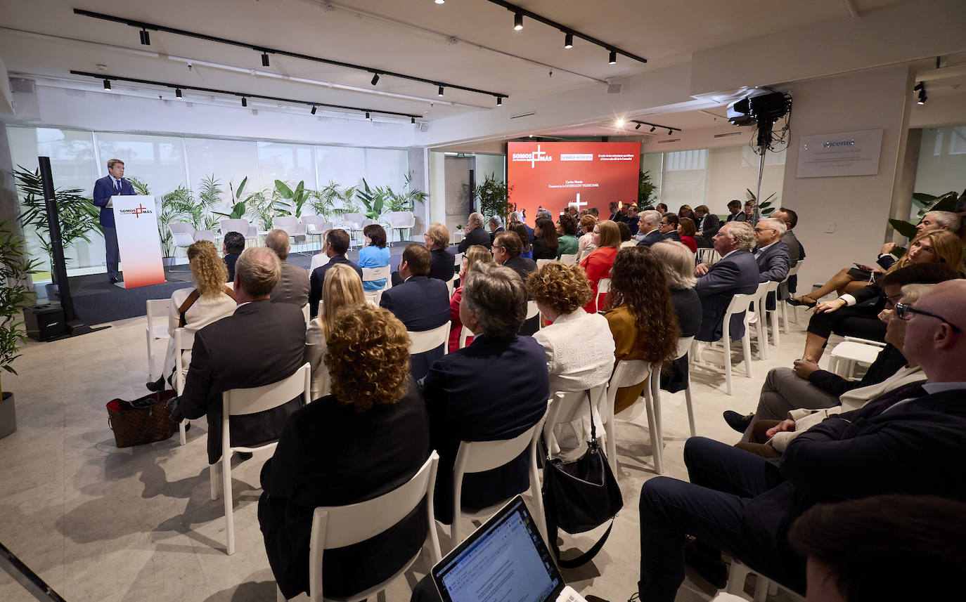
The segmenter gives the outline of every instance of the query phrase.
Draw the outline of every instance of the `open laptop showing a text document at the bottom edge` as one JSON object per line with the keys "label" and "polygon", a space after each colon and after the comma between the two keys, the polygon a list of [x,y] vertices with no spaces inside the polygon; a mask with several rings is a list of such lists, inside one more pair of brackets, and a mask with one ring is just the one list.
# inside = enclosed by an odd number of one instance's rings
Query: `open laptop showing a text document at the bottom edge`
{"label": "open laptop showing a text document at the bottom edge", "polygon": [[433,567],[443,602],[586,602],[560,576],[521,496]]}

